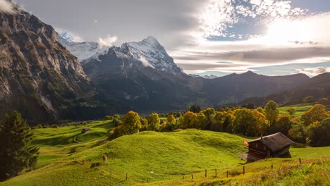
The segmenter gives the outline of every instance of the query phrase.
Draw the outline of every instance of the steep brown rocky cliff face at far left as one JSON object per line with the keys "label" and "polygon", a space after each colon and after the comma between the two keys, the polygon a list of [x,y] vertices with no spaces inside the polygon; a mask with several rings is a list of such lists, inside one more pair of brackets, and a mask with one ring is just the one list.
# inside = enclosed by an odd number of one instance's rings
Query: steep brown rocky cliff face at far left
{"label": "steep brown rocky cliff face at far left", "polygon": [[35,122],[78,118],[97,94],[53,27],[18,8],[0,12],[0,82],[2,116],[15,109]]}

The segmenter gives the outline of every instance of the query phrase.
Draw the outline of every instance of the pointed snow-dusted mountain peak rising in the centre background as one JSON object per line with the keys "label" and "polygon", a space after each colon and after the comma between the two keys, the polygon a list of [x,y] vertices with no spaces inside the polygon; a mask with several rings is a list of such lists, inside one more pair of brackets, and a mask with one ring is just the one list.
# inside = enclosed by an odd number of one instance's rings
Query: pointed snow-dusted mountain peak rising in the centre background
{"label": "pointed snow-dusted mountain peak rising in the centre background", "polygon": [[109,99],[138,111],[183,109],[183,103],[198,94],[190,89],[193,77],[176,66],[154,37],[111,47],[82,63],[91,82]]}

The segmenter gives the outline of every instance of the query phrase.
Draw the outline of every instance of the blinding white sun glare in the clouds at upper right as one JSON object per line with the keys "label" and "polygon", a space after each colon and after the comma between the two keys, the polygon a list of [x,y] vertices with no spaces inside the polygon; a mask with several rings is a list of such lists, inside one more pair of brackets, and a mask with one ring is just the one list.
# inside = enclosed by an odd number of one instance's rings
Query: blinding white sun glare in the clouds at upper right
{"label": "blinding white sun glare in the clouds at upper right", "polygon": [[267,45],[290,45],[293,42],[310,42],[313,39],[313,28],[302,21],[276,21],[269,25],[266,38]]}

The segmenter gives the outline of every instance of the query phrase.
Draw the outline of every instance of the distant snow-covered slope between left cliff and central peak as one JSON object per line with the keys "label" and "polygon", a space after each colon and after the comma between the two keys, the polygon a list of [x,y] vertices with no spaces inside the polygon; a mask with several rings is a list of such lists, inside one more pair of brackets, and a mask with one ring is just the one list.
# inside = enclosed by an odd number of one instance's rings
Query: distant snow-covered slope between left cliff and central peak
{"label": "distant snow-covered slope between left cliff and central peak", "polygon": [[97,42],[73,42],[71,37],[64,37],[59,35],[59,42],[71,51],[71,53],[78,58],[78,61],[82,62],[87,58],[99,56],[104,54],[107,48],[101,46]]}

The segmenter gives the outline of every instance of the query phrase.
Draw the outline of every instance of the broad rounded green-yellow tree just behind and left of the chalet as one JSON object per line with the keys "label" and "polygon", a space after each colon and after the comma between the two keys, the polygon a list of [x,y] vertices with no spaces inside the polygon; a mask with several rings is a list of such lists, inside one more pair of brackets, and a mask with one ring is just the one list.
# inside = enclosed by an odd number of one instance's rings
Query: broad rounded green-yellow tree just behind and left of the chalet
{"label": "broad rounded green-yellow tree just behind and left of the chalet", "polygon": [[236,111],[236,118],[233,122],[233,132],[242,133],[247,136],[257,135],[257,119],[249,109],[239,109]]}

